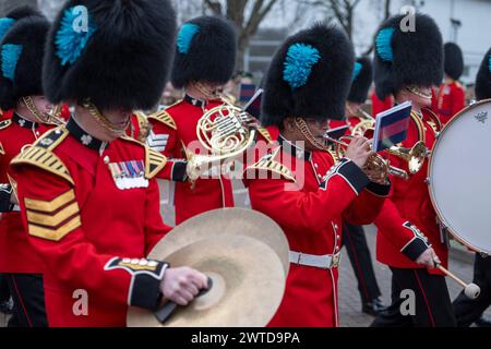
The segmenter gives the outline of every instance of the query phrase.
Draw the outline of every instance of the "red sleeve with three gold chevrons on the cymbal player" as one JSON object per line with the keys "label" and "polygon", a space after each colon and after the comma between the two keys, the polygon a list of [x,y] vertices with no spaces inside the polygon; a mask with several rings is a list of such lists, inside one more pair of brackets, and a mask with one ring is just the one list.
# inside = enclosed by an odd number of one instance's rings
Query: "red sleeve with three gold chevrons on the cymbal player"
{"label": "red sleeve with three gold chevrons on the cymbal player", "polygon": [[[59,281],[97,292],[111,302],[147,309],[158,305],[165,263],[151,261],[143,273],[133,269],[129,260],[99,253],[85,238],[76,194],[68,181],[34,167],[13,170],[13,177],[29,242]],[[149,201],[155,190],[153,184]],[[157,239],[156,228],[156,221],[145,227],[148,246]]]}

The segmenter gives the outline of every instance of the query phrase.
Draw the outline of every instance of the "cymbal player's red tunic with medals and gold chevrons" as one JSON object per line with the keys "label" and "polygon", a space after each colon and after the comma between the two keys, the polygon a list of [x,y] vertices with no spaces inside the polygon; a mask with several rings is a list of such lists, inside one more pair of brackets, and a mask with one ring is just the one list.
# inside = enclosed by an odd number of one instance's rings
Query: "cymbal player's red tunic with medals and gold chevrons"
{"label": "cymbal player's red tunic with medals and gold chevrons", "polygon": [[[170,229],[154,179],[166,159],[128,137],[104,144],[71,122],[10,168],[29,242],[47,266],[49,325],[124,326],[129,304],[155,309],[160,299],[165,264],[143,258]],[[80,291],[86,314],[73,311]]]}

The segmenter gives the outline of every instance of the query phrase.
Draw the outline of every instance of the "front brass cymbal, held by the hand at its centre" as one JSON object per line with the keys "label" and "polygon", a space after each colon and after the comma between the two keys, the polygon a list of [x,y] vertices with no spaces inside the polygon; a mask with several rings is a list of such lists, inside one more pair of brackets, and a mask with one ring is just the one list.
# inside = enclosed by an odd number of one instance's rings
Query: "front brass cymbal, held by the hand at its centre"
{"label": "front brass cymbal, held by the hand at its centre", "polygon": [[270,245],[251,237],[219,234],[170,255],[152,254],[171,266],[201,270],[213,285],[189,305],[178,306],[164,325],[152,312],[130,308],[128,326],[258,327],[265,326],[280,304],[286,279],[282,262]]}

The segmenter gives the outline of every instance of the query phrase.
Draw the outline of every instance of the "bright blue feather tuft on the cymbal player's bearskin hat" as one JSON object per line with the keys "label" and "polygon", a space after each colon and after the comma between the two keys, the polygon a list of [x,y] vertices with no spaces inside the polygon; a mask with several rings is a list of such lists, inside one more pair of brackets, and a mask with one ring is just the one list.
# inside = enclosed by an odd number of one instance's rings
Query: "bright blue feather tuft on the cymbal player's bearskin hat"
{"label": "bright blue feather tuft on the cymbal player's bearskin hat", "polygon": [[64,11],[60,28],[55,37],[56,55],[61,60],[61,65],[75,63],[79,57],[82,56],[88,39],[96,31],[96,25],[91,22],[91,16],[87,19],[86,28],[77,26],[81,24],[81,13],[75,8]]}

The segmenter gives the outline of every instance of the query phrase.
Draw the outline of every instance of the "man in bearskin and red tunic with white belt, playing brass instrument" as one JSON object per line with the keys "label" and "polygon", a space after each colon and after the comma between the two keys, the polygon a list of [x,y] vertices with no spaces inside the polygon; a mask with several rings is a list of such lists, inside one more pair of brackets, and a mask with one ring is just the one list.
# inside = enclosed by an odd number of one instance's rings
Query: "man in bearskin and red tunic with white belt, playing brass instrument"
{"label": "man in bearskin and red tunic with white belt, playing brass instrument", "polygon": [[243,181],[252,208],[274,219],[290,245],[285,296],[270,326],[338,326],[343,220],[371,222],[390,191],[361,169],[372,154],[368,140],[355,139],[335,166],[326,151],[327,121],[345,115],[354,65],[347,36],[316,24],[285,41],[265,77],[261,121],[277,142]]}

